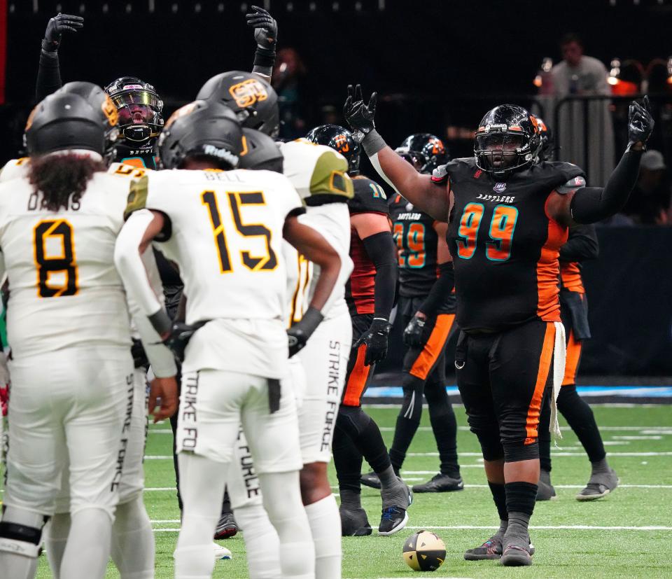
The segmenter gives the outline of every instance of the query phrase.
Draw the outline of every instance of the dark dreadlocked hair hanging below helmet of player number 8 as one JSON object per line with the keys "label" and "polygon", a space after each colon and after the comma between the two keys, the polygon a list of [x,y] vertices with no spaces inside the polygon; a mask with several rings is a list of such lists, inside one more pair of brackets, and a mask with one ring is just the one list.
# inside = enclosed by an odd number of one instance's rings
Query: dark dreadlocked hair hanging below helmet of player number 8
{"label": "dark dreadlocked hair hanging below helmet of player number 8", "polygon": [[35,193],[42,193],[42,207],[49,211],[68,209],[77,203],[94,173],[107,169],[101,160],[85,155],[45,155],[30,160],[28,180]]}

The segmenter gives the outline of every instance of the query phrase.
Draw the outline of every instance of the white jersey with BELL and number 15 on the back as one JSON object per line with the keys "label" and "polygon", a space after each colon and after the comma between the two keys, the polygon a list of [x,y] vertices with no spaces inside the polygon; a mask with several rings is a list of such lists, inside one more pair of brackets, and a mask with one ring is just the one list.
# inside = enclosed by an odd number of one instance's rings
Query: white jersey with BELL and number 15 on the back
{"label": "white jersey with BELL and number 15 on the back", "polygon": [[[216,321],[193,337],[185,367],[284,377],[282,230],[303,211],[289,181],[269,171],[152,172],[133,183],[126,214],[145,208],[166,217],[155,241],[180,268],[186,322]],[[216,339],[222,332],[228,340]]]}

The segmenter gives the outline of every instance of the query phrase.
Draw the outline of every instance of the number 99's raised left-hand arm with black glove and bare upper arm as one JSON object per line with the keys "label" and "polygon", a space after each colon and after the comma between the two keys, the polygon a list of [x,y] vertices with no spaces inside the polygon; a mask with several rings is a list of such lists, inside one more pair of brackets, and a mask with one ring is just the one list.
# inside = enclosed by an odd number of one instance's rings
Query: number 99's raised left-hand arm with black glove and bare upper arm
{"label": "number 99's raised left-hand arm with black glove and bare upper arm", "polygon": [[374,169],[398,193],[409,202],[425,211],[437,221],[448,221],[448,192],[443,186],[436,186],[429,175],[420,174],[407,161],[400,158],[375,130],[377,94],[371,95],[369,104],[365,104],[362,88],[357,85],[348,87],[343,114],[361,139],[364,151]]}

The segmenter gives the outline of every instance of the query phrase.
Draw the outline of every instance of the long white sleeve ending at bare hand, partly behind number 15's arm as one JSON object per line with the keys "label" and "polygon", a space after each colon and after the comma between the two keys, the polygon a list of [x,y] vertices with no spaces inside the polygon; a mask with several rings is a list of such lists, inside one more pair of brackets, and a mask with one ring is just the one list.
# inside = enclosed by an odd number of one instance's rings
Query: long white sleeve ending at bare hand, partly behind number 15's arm
{"label": "long white sleeve ending at bare hand, partly behind number 15's arm", "polygon": [[[163,302],[161,279],[151,248],[148,248],[147,251],[143,253],[142,262],[153,291],[159,296],[159,301]],[[152,367],[154,375],[158,378],[167,378],[176,375],[177,367],[172,351],[162,344],[160,335],[158,335],[148,317],[141,312],[139,305],[132,300],[130,295],[128,307],[133,317],[135,328],[140,334],[140,340],[142,340],[145,354],[147,355],[147,359]]]}

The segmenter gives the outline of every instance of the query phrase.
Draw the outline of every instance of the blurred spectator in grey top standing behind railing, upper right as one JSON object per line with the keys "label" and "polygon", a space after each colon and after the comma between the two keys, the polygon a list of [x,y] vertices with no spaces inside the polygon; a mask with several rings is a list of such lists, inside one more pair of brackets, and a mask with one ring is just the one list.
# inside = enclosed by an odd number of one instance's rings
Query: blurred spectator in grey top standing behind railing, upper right
{"label": "blurred spectator in grey top standing behind railing, upper right", "polygon": [[[611,94],[607,69],[596,58],[583,54],[583,43],[578,36],[563,36],[560,49],[563,60],[551,69],[556,99]],[[585,167],[589,185],[604,186],[614,169],[614,131],[609,101],[588,102],[585,108],[583,102],[568,102],[561,106],[558,120],[560,160]]]}

